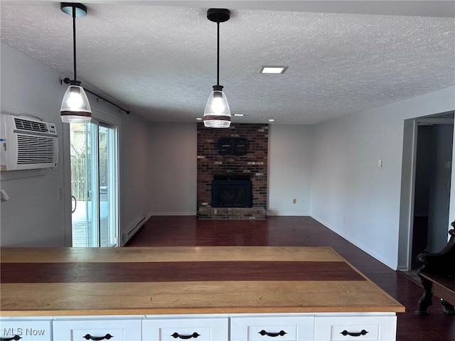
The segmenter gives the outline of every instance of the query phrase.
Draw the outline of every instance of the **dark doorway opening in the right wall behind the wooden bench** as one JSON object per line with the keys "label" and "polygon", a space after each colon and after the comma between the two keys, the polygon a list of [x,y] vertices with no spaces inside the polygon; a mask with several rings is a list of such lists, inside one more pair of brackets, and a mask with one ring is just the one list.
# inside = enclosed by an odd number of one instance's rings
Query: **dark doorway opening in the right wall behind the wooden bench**
{"label": "dark doorway opening in the right wall behind the wooden bench", "polygon": [[418,269],[419,253],[439,251],[447,242],[453,138],[454,112],[405,121],[401,270]]}

